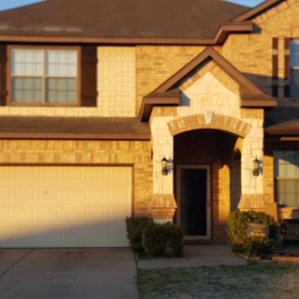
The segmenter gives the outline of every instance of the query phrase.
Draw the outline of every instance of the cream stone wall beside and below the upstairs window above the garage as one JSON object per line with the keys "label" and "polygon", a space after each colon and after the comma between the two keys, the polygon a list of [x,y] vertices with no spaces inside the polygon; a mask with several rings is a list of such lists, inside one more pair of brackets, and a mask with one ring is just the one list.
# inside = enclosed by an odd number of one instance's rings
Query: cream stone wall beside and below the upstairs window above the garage
{"label": "cream stone wall beside and below the upstairs window above the garage", "polygon": [[97,107],[1,106],[0,115],[135,117],[135,47],[97,47]]}

